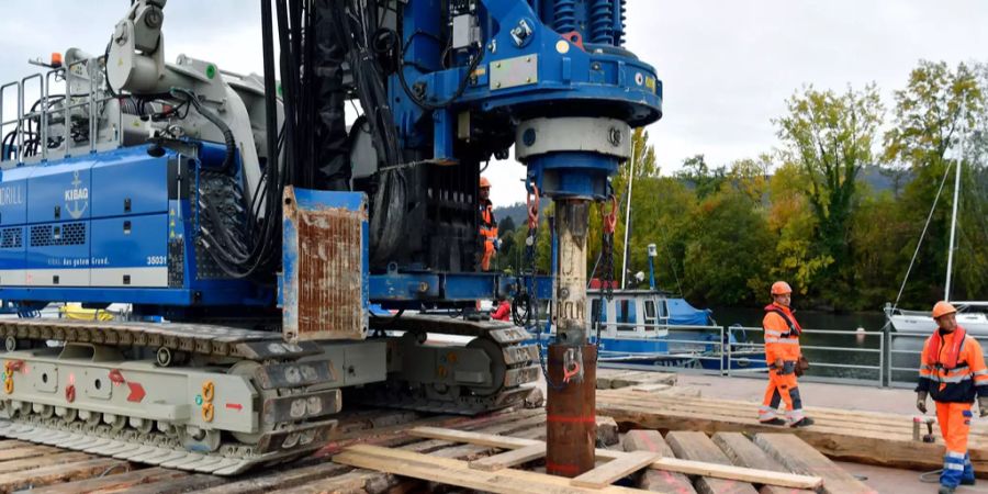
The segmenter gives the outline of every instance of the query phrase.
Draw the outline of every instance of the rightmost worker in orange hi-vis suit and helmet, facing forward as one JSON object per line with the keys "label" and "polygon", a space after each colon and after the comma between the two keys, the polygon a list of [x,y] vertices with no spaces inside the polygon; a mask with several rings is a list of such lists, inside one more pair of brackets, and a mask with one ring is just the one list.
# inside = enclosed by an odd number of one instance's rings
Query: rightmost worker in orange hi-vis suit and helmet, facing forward
{"label": "rightmost worker in orange hi-vis suit and helmet, facing forward", "polygon": [[957,325],[957,310],[946,301],[933,306],[936,330],[923,344],[916,407],[927,413],[927,396],[936,403],[936,422],[946,442],[940,493],[953,493],[959,484],[974,485],[974,468],[967,452],[970,405],[978,398],[978,415],[988,415],[988,369],[981,346]]}

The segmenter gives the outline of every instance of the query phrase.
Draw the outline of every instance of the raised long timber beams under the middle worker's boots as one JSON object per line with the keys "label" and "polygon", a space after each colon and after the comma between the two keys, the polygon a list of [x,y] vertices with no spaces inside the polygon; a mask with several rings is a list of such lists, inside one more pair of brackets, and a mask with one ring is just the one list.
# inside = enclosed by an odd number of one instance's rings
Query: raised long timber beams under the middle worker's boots
{"label": "raised long timber beams under the middle worker's boots", "polygon": [[[756,418],[757,405],[752,403],[748,404],[749,413],[742,416],[709,413],[706,403],[716,402],[715,400],[694,400],[696,405],[689,406],[689,409],[666,406],[673,401],[644,400],[638,396],[632,403],[624,398],[615,400],[604,392],[598,392],[597,414],[614,417],[621,427],[642,429],[699,430],[707,434],[785,431],[797,435],[821,453],[835,460],[912,470],[942,468],[943,440],[938,436],[934,444],[913,441],[912,422],[907,415],[899,416],[898,423],[908,430],[908,434],[867,430],[851,420],[840,426],[827,426],[818,422],[811,427],[791,429],[760,424]],[[988,474],[988,448],[979,447],[977,441],[973,441],[969,442],[968,451],[975,471]]]}

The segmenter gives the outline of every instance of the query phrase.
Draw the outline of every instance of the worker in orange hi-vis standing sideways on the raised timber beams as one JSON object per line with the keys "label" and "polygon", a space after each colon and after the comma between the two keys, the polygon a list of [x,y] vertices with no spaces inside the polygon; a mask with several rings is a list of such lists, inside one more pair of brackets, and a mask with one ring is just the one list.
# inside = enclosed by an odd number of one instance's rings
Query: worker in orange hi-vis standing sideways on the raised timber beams
{"label": "worker in orange hi-vis standing sideways on the raised timber beams", "polygon": [[[765,306],[765,361],[768,362],[768,388],[759,408],[759,422],[771,425],[806,427],[813,419],[802,414],[802,400],[796,382],[797,372],[809,366],[799,349],[802,328],[789,308],[793,289],[785,281],[772,284],[772,303]],[[786,419],[778,417],[779,401],[786,404]]]}

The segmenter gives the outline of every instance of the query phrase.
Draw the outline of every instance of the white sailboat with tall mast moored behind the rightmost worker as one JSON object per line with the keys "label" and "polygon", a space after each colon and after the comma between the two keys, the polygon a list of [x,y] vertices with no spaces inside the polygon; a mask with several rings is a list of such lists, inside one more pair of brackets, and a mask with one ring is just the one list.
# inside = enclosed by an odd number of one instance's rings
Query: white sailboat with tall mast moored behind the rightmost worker
{"label": "white sailboat with tall mast moored behind the rightmost worker", "polygon": [[[957,307],[957,324],[964,327],[965,330],[969,335],[973,336],[988,336],[988,314],[985,311],[988,311],[988,302],[986,301],[951,301],[951,278],[953,274],[953,266],[954,266],[954,249],[956,248],[956,232],[957,232],[957,203],[961,194],[961,169],[964,165],[964,160],[961,157],[964,156],[963,145],[962,151],[958,155],[958,159],[956,160],[956,168],[954,171],[954,204],[953,212],[951,215],[951,238],[950,238],[950,248],[947,249],[947,268],[946,268],[946,283],[944,285],[944,294],[943,300],[950,301],[955,307]],[[946,176],[944,176],[944,180],[946,180]],[[941,184],[941,190],[943,186]],[[938,193],[936,198],[940,198]],[[933,207],[936,207],[936,200],[933,201]],[[931,212],[932,213],[932,212]],[[932,214],[931,214],[932,217]],[[929,224],[929,218],[927,220]],[[925,234],[925,228],[923,229],[923,234]],[[920,245],[922,245],[922,237],[920,237]],[[919,251],[920,245],[917,245],[917,252]],[[913,261],[916,260],[916,256],[913,255]],[[912,269],[912,263],[910,262],[910,270]],[[902,288],[906,287],[906,281],[909,279],[909,271],[906,272],[906,279],[902,280]],[[902,294],[902,289],[899,289],[899,296]],[[933,321],[932,313],[924,311],[906,311],[899,308],[898,299],[896,299],[896,303],[887,303],[885,304],[885,316],[888,318],[889,324],[892,329],[898,333],[906,334],[923,334],[929,335],[934,329],[936,329],[936,322]]]}

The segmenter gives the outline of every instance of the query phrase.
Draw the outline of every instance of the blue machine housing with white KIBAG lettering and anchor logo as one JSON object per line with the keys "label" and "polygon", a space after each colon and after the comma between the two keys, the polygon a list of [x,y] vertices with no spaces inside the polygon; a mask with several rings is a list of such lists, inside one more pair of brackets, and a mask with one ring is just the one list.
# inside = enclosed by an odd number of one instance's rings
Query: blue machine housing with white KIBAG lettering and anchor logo
{"label": "blue machine housing with white KIBAG lettering and anchor logo", "polygon": [[197,256],[190,191],[222,153],[200,156],[138,146],[0,171],[0,299],[271,304],[273,290]]}

